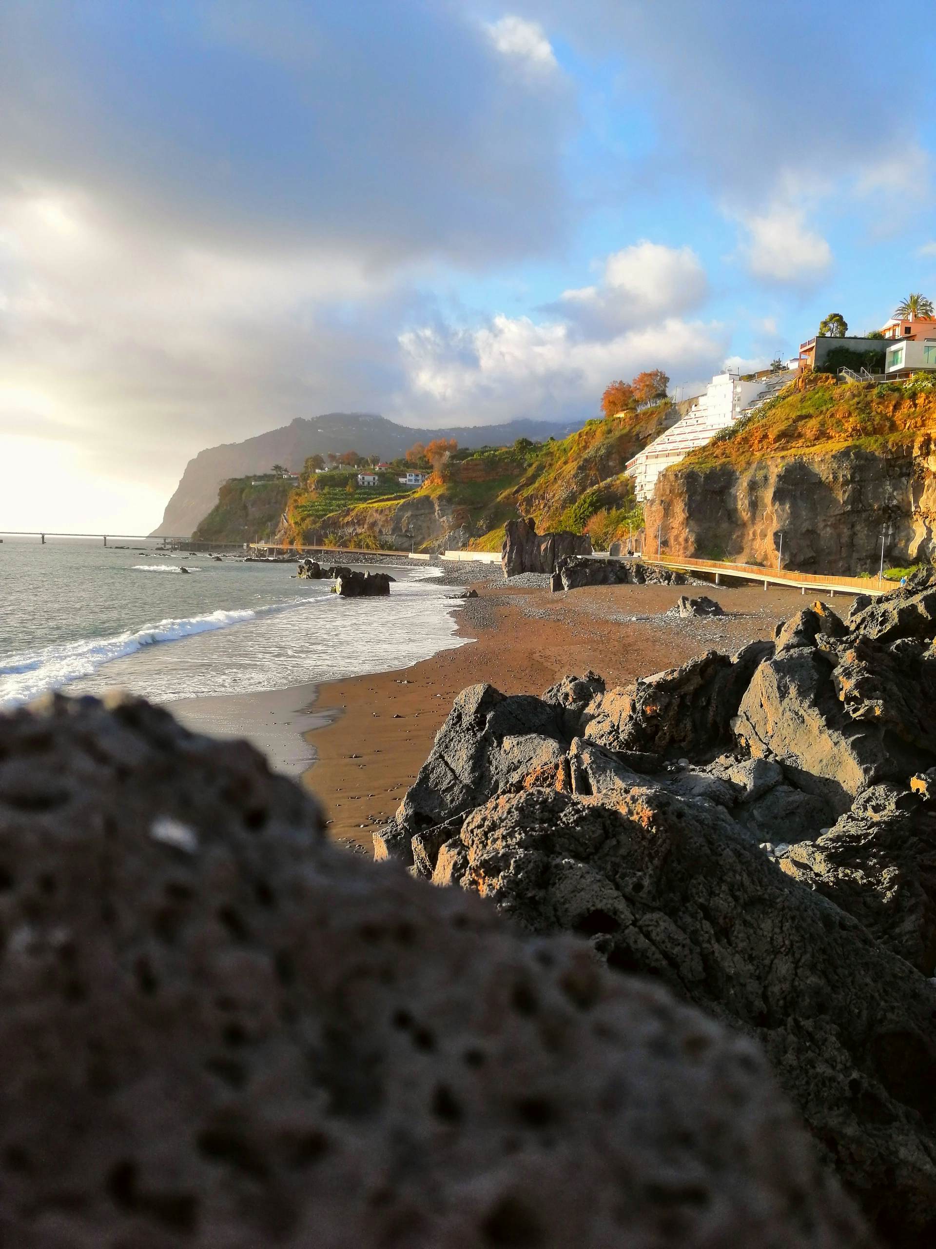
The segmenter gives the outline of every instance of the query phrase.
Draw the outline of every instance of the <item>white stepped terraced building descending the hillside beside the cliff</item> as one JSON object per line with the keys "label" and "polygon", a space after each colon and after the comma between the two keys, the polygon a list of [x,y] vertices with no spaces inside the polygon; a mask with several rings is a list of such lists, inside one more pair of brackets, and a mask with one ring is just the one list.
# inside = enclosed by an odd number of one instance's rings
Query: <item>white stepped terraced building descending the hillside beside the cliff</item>
{"label": "white stepped terraced building descending the hillside beside the cliff", "polygon": [[785,370],[759,377],[756,381],[741,381],[738,372],[718,373],[699,396],[695,406],[674,426],[654,438],[644,450],[628,461],[625,472],[634,477],[634,493],[643,502],[654,491],[656,478],[664,468],[679,463],[683,456],[703,447],[739,417],[775,395],[796,376],[795,371]]}

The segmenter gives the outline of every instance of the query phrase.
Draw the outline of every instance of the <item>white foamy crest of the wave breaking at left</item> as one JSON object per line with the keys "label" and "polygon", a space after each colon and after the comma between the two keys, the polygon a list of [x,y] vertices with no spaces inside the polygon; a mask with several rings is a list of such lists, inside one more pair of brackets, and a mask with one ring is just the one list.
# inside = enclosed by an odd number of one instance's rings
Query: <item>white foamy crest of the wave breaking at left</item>
{"label": "white foamy crest of the wave breaking at left", "polygon": [[45,689],[55,689],[80,677],[90,677],[102,664],[134,654],[145,646],[177,642],[193,633],[210,633],[212,629],[255,620],[257,612],[250,608],[217,611],[206,616],[191,616],[187,620],[160,621],[136,632],[117,633],[115,637],[79,638],[44,647],[32,654],[12,654],[0,664],[0,678],[9,678],[2,681],[0,707],[12,707],[35,698]]}

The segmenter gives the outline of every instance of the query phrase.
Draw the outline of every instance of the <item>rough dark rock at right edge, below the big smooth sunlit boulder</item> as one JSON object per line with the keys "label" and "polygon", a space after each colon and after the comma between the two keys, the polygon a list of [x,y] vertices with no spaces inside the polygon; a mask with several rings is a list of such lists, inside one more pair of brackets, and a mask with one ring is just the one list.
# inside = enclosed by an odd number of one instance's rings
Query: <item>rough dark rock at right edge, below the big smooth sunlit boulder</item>
{"label": "rough dark rock at right edge, below the big smooth sunlit boulder", "polygon": [[[780,827],[778,824],[778,827]],[[780,867],[860,919],[925,975],[936,974],[936,809],[910,789],[872,786]]]}

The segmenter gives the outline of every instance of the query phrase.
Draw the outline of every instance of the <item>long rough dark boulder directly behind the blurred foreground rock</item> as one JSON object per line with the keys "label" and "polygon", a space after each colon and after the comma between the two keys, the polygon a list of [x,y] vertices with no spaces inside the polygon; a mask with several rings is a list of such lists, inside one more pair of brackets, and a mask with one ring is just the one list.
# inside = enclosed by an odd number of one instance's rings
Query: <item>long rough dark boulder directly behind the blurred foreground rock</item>
{"label": "long rough dark boulder directly behind the blurred foreground rock", "polygon": [[473,812],[437,884],[534,933],[589,937],[756,1037],[817,1148],[885,1239],[936,1235],[936,989],[789,879],[709,802],[530,789]]}

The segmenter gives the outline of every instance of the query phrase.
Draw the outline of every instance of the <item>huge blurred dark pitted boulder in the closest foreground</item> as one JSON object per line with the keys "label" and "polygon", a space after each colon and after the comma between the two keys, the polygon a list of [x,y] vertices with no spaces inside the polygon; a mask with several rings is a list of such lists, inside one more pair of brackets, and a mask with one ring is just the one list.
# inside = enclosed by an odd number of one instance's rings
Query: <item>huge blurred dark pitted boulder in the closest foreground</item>
{"label": "huge blurred dark pitted boulder in the closest foreground", "polygon": [[331,848],[246,743],[0,717],[0,866],[5,1245],[870,1249],[748,1038]]}

